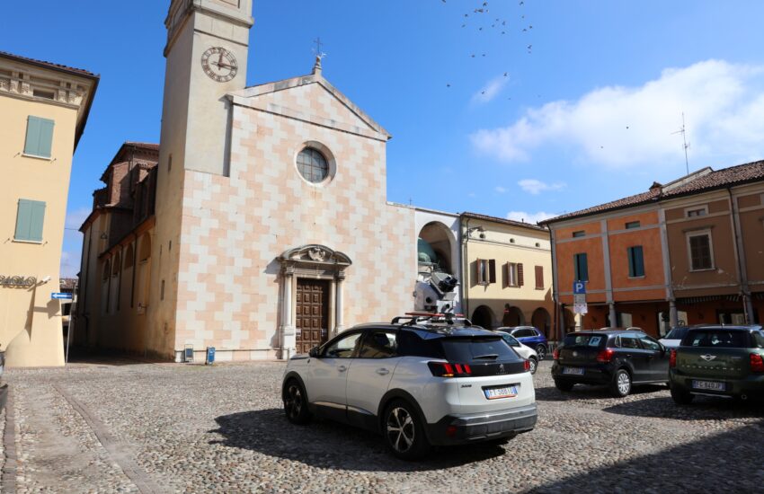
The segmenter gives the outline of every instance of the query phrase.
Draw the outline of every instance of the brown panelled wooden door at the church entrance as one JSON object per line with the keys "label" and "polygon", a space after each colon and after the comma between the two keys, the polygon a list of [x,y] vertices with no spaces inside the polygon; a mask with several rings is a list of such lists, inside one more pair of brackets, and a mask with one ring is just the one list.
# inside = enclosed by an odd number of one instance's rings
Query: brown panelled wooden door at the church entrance
{"label": "brown panelled wooden door at the church entrance", "polygon": [[298,278],[298,353],[307,353],[329,338],[329,289],[328,280]]}

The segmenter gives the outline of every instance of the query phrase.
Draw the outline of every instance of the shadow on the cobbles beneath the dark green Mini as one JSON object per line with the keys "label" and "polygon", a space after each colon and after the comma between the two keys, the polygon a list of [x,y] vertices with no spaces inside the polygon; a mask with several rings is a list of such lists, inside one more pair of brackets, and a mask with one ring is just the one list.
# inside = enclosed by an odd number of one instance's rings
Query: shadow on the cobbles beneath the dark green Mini
{"label": "shadow on the cobbles beneath the dark green Mini", "polygon": [[761,401],[735,401],[729,398],[696,396],[689,405],[677,405],[671,397],[619,403],[602,409],[629,417],[677,420],[725,420],[764,418]]}

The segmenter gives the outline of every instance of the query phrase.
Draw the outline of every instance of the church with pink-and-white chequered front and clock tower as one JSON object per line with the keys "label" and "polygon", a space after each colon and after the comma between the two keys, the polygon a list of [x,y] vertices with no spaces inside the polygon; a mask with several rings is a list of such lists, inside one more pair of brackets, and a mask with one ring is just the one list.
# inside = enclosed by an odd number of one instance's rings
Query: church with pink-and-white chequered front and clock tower
{"label": "church with pink-and-white chequered front and clock tower", "polygon": [[[161,145],[142,164],[155,204],[129,228],[95,204],[83,225],[98,248],[83,252],[80,343],[176,361],[207,347],[218,360],[287,358],[413,308],[415,213],[386,201],[390,135],[320,59],[310,75],[246,87],[251,10],[173,0]],[[107,173],[118,178],[106,189],[133,194],[138,165]],[[120,304],[104,310],[111,294]]]}

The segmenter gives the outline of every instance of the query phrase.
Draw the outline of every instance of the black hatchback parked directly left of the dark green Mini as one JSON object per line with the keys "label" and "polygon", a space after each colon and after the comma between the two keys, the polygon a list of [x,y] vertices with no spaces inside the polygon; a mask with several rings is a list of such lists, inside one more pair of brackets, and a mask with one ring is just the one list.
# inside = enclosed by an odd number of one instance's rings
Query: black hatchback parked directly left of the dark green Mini
{"label": "black hatchback parked directly left of the dark green Mini", "polygon": [[669,352],[642,331],[577,331],[555,349],[552,376],[561,391],[575,384],[607,385],[626,396],[637,384],[669,381]]}

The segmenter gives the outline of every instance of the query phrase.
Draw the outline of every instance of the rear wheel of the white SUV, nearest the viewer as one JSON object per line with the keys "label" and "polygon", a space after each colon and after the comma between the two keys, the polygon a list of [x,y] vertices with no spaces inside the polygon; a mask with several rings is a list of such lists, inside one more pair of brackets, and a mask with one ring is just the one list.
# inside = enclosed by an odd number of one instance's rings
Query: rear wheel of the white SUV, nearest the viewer
{"label": "rear wheel of the white SUV, nearest the viewer", "polygon": [[408,401],[394,400],[387,405],[382,432],[387,447],[402,460],[418,460],[430,452],[424,422]]}

